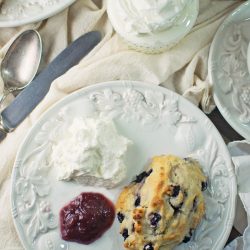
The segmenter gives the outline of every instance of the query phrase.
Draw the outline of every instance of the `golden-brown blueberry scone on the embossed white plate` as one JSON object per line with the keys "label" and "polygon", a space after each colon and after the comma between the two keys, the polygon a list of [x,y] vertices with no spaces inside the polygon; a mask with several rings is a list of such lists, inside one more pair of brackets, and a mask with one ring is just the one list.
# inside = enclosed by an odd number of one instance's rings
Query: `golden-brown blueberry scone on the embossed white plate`
{"label": "golden-brown blueberry scone on the embossed white plate", "polygon": [[172,249],[188,242],[205,213],[207,187],[199,163],[191,158],[156,156],[116,203],[125,249]]}

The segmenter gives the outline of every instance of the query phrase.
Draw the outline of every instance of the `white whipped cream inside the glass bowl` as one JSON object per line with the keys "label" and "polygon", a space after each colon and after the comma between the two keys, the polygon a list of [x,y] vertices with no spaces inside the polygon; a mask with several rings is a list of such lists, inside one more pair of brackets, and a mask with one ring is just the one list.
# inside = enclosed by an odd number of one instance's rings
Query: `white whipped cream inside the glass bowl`
{"label": "white whipped cream inside the glass bowl", "polygon": [[157,33],[175,25],[190,0],[119,0],[127,32]]}

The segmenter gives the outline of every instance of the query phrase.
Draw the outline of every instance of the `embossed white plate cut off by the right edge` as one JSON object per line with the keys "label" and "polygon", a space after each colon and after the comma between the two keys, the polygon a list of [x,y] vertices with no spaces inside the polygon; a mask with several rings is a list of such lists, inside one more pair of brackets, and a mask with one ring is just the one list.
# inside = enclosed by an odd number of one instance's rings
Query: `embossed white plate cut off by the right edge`
{"label": "embossed white plate cut off by the right edge", "polygon": [[209,78],[215,103],[225,120],[250,140],[250,2],[234,10],[219,27],[209,53]]}

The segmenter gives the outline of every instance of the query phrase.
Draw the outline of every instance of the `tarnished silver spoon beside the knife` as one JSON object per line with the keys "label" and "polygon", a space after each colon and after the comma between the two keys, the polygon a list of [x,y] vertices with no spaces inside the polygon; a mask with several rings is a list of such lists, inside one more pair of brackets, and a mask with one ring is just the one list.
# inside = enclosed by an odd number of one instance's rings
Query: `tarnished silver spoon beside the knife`
{"label": "tarnished silver spoon beside the knife", "polygon": [[14,91],[25,88],[34,78],[42,56],[42,41],[35,30],[22,32],[11,44],[1,64],[1,76],[4,82],[4,99]]}

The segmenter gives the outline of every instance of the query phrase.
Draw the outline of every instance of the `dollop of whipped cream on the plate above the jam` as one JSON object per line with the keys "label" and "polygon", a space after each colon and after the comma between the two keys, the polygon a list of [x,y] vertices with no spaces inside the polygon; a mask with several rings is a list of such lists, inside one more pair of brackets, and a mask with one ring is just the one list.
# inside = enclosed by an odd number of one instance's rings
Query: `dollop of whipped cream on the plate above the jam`
{"label": "dollop of whipped cream on the plate above the jam", "polygon": [[52,146],[51,161],[59,180],[111,188],[126,176],[124,156],[130,144],[112,120],[76,117]]}

